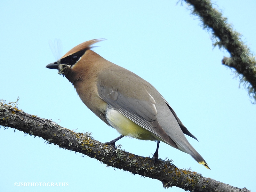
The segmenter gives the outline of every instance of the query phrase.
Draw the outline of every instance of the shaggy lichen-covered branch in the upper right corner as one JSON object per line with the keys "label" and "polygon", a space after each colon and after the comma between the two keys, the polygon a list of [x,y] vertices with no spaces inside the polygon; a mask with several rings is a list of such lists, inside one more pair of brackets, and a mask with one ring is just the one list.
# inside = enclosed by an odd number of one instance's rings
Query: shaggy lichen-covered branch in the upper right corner
{"label": "shaggy lichen-covered branch in the upper right corner", "polygon": [[231,58],[222,60],[222,64],[236,69],[240,83],[248,91],[256,104],[256,60],[249,48],[240,38],[240,34],[228,24],[227,18],[212,7],[210,0],[184,0],[193,5],[192,13],[199,16],[204,28],[212,31],[214,46],[225,48]]}

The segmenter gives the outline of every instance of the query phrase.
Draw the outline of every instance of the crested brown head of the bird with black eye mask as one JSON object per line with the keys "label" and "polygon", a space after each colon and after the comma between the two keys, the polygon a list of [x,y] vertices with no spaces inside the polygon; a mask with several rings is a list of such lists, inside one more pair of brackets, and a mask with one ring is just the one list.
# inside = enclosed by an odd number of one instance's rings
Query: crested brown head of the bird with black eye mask
{"label": "crested brown head of the bird with black eye mask", "polygon": [[99,60],[103,59],[91,50],[93,48],[92,45],[100,41],[102,39],[93,39],[81,43],[58,61],[48,64],[46,68],[58,69],[58,73],[66,76],[72,84],[83,80],[83,78],[90,78],[91,72],[94,73],[97,70],[94,68],[95,64],[99,64]]}

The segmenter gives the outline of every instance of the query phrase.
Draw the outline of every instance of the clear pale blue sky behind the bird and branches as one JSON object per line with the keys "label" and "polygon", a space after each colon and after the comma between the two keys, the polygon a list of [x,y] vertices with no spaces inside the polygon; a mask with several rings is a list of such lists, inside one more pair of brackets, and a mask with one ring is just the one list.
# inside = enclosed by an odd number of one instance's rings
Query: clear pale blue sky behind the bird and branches
{"label": "clear pale blue sky behind the bird and branches", "polygon": [[[211,170],[160,143],[159,157],[230,185],[256,191],[255,111],[229,68],[229,54],[212,47],[209,33],[177,1],[1,1],[0,99],[16,101],[27,113],[101,142],[119,134],[79,99],[72,84],[45,68],[55,61],[49,40],[59,38],[64,55],[74,46],[105,38],[94,49],[105,59],[141,76],[164,96],[199,140],[189,142]],[[185,3],[183,3],[185,5]],[[256,50],[253,0],[215,1],[215,6]],[[156,143],[123,138],[117,142],[141,156]],[[41,138],[0,129],[2,191],[165,191],[158,180],[132,175]],[[68,187],[15,187],[15,182],[68,182]],[[173,187],[171,191],[184,191]]]}

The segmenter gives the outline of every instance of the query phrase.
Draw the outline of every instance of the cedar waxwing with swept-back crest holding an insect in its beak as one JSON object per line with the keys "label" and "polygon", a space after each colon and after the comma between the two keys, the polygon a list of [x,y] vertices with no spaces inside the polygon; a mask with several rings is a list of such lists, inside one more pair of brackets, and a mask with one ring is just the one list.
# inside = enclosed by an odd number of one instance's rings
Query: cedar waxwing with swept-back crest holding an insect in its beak
{"label": "cedar waxwing with swept-back crest holding an insect in its beak", "polygon": [[79,44],[46,67],[58,69],[59,74],[66,76],[84,104],[121,134],[108,143],[115,145],[124,136],[157,141],[153,155],[157,161],[159,142],[163,141],[210,169],[184,134],[196,137],[163,96],[144,79],[93,52],[92,44],[99,41]]}

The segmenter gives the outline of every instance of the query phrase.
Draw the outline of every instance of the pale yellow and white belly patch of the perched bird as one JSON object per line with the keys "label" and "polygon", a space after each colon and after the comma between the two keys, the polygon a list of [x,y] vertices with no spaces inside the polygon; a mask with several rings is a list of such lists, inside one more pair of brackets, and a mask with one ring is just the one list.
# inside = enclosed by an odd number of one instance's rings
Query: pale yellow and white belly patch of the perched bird
{"label": "pale yellow and white belly patch of the perched bird", "polygon": [[107,109],[106,117],[108,123],[113,128],[115,128],[116,131],[118,131],[120,134],[124,136],[133,137],[140,140],[156,140],[156,138],[150,131],[134,123],[132,120],[122,115],[119,111],[115,110],[114,108]]}

